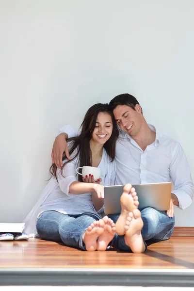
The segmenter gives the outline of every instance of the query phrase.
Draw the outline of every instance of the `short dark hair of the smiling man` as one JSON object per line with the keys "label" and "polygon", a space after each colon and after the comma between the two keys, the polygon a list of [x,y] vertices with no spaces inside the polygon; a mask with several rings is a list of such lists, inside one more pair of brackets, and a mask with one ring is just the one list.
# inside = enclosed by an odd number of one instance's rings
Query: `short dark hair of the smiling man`
{"label": "short dark hair of the smiling man", "polygon": [[[130,108],[134,109],[135,110],[135,105],[136,104],[139,104],[139,102],[137,101],[137,99],[128,94],[128,93],[124,93],[124,94],[121,94],[121,95],[118,95],[116,97],[114,97],[110,103],[109,103],[109,106],[111,108],[111,110],[113,111],[118,105],[127,105],[129,106]],[[140,105],[140,104],[139,104]]]}

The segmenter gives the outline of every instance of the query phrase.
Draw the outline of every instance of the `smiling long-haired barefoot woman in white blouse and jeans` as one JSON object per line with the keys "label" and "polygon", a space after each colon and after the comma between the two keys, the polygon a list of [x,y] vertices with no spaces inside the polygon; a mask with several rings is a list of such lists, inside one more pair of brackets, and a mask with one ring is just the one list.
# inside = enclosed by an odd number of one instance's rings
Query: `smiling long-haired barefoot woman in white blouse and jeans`
{"label": "smiling long-haired barefoot woman in white blouse and jeans", "polygon": [[[103,212],[103,188],[115,178],[115,143],[118,129],[108,104],[95,104],[85,114],[81,133],[68,139],[71,160],[50,167],[52,175],[41,197],[25,219],[25,231],[50,241],[87,251],[106,250],[115,234],[113,221]],[[78,177],[81,166],[101,168],[101,184]],[[103,186],[102,186],[103,185]]]}

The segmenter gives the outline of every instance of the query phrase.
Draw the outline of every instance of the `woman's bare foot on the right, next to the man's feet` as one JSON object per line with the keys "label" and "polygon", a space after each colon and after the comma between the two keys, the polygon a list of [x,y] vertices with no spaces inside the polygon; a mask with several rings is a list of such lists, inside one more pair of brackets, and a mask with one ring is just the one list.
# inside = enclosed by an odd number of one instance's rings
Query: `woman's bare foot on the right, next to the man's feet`
{"label": "woman's bare foot on the right, next to the man's feet", "polygon": [[97,239],[97,251],[106,251],[109,242],[113,240],[113,237],[116,233],[116,228],[111,218],[104,216],[102,218],[104,221],[104,232],[99,235]]}

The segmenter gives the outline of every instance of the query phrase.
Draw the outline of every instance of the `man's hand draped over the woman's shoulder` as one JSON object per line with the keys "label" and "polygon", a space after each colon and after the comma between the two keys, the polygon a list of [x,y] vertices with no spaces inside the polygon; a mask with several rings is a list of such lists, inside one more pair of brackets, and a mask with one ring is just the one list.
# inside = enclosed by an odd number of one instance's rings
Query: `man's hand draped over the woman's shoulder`
{"label": "man's hand draped over the woman's shoulder", "polygon": [[63,166],[63,153],[65,152],[65,155],[68,160],[71,160],[69,156],[68,146],[66,143],[66,139],[68,138],[66,133],[59,134],[54,141],[53,147],[52,147],[52,162],[56,164],[56,166],[60,169]]}

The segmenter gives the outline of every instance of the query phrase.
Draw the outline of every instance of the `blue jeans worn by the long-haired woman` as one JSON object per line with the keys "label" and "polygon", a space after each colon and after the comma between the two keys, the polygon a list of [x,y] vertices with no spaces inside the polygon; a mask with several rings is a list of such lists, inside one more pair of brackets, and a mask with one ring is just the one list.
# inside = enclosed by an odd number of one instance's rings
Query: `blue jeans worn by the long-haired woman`
{"label": "blue jeans worn by the long-haired woman", "polygon": [[99,217],[93,213],[67,215],[54,210],[42,212],[37,219],[38,235],[48,241],[64,242],[85,250],[83,233]]}

